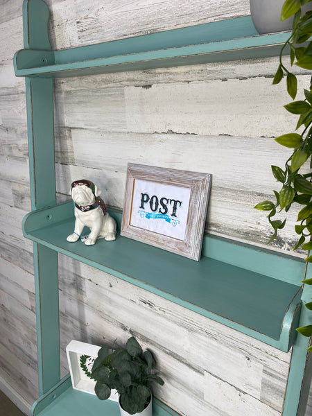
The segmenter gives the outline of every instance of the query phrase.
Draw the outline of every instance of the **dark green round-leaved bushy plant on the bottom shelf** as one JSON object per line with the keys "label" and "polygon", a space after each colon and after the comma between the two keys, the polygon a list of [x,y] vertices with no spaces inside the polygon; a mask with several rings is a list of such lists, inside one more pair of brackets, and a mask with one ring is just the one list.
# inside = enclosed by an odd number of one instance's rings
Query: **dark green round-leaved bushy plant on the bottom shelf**
{"label": "dark green round-leaved bushy plant on the bottom shelf", "polygon": [[123,410],[130,415],[140,413],[148,406],[153,383],[164,381],[153,374],[155,359],[149,349],[143,352],[135,337],[128,339],[125,348],[119,347],[110,352],[104,345],[98,351],[92,371],[87,368],[88,356],[80,357],[80,367],[90,379],[96,381],[94,391],[98,399],[106,400],[111,390],[119,393]]}

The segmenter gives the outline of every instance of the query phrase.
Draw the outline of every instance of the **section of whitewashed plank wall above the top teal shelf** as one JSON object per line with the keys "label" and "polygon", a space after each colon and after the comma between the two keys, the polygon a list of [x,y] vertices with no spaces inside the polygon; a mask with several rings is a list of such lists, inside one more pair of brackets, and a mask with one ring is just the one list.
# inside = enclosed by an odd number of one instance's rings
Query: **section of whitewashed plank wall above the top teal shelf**
{"label": "section of whitewashed plank wall above the top teal shelf", "polygon": [[[66,1],[46,1],[53,11],[51,42],[56,49],[146,35],[183,26],[208,23],[250,14],[248,0],[78,1],[66,10]],[[65,12],[64,12],[65,10]]]}

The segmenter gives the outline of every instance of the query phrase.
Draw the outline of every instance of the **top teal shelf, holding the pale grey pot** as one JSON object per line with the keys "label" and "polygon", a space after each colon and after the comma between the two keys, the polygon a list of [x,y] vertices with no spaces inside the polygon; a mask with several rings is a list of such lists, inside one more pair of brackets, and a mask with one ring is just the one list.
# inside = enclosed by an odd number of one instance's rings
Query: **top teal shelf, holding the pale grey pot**
{"label": "top teal shelf, holding the pale grey pot", "polygon": [[279,55],[289,32],[258,35],[250,16],[60,51],[22,49],[16,76],[69,77]]}

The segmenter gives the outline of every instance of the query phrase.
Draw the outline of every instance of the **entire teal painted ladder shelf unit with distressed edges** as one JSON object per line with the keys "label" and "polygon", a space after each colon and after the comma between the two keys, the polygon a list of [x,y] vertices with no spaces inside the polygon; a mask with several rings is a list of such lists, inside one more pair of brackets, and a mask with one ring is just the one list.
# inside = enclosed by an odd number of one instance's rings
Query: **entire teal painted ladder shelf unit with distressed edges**
{"label": "entire teal painted ladder shelf unit with distressed edges", "polygon": [[[48,20],[44,1],[24,0],[24,49],[14,58],[16,76],[26,79],[28,114],[32,211],[24,218],[23,232],[34,248],[40,385],[33,416],[118,414],[116,404],[73,390],[69,376],[60,379],[58,253],[215,320],[225,330],[285,352],[292,347],[283,416],[295,415],[306,395],[308,340],[296,338],[295,328],[312,323],[301,307],[311,297],[301,283],[311,275],[309,266],[208,235],[199,262],[122,236],[92,247],[67,243],[73,203],[56,204],[53,136],[53,78],[275,56],[288,33],[258,35],[247,16],[52,51]],[[121,213],[112,215],[120,224]],[[154,415],[177,413],[155,399]]]}

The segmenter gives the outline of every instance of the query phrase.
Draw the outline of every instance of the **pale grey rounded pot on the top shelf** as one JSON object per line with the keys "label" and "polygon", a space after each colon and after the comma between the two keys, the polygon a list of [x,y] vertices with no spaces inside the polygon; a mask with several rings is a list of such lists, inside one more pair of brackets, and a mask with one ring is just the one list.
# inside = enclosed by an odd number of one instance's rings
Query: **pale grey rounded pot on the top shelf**
{"label": "pale grey rounded pot on the top shelf", "polygon": [[[289,31],[293,17],[281,21],[281,8],[285,0],[250,0],[250,13],[259,34]],[[302,7],[302,15],[312,10],[312,3]]]}

